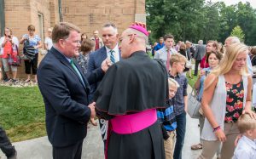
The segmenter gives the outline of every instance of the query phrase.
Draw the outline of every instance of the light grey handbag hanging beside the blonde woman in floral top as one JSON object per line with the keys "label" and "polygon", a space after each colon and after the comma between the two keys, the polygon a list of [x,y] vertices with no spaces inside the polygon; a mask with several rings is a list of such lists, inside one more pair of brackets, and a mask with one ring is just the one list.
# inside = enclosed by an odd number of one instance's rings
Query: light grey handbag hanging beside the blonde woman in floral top
{"label": "light grey handbag hanging beside the blonde woman in floral top", "polygon": [[191,118],[199,118],[201,116],[199,110],[201,102],[196,98],[195,88],[192,89],[188,99],[188,113]]}

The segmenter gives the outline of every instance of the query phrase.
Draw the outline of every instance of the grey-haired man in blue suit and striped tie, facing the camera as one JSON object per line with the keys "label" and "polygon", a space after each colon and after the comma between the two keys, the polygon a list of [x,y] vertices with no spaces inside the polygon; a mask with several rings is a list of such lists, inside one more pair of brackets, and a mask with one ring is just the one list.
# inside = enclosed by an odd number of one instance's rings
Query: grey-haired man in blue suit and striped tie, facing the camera
{"label": "grey-haired man in blue suit and striped tie, facing the camera", "polygon": [[[102,40],[104,46],[92,54],[90,54],[88,62],[88,73],[101,69],[102,61],[106,58],[111,60],[112,64],[120,60],[120,53],[118,47],[119,34],[117,27],[113,23],[107,23],[102,27]],[[92,100],[96,88],[99,86],[101,81],[91,85],[90,101]],[[107,139],[108,121],[103,119],[99,120],[100,128],[102,133],[102,139],[105,142]]]}

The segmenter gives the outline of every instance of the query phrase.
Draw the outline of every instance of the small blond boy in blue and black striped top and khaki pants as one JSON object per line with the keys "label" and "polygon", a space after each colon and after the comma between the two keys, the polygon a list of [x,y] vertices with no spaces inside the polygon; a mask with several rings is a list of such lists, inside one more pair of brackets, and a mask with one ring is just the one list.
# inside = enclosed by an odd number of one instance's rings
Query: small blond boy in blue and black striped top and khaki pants
{"label": "small blond boy in blue and black striped top and khaki pants", "polygon": [[172,78],[168,78],[169,86],[169,100],[167,101],[168,107],[166,109],[159,109],[157,111],[157,117],[161,123],[164,146],[166,151],[166,159],[173,159],[173,145],[175,143],[175,129],[177,128],[177,122],[173,113],[173,100],[172,98],[177,92],[179,84]]}

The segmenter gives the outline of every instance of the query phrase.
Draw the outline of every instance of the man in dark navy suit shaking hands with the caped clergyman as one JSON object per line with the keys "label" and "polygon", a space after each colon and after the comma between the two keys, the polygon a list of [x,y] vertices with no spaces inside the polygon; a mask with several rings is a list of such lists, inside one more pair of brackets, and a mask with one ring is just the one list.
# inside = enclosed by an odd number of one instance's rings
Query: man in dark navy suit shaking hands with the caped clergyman
{"label": "man in dark navy suit shaking hands with the caped clergyman", "polygon": [[[103,77],[94,71],[87,79],[73,57],[79,55],[78,26],[62,22],[52,33],[54,46],[38,67],[38,86],[44,98],[46,130],[55,159],[80,159],[87,122],[95,116],[95,103],[89,105],[89,82]],[[106,64],[106,65],[104,65]]]}

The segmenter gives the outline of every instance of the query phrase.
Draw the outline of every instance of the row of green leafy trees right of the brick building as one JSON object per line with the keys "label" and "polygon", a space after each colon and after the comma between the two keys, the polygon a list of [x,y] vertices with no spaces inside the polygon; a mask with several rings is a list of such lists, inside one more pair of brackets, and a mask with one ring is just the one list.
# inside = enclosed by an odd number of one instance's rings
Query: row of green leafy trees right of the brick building
{"label": "row of green leafy trees right of the brick building", "polygon": [[206,0],[146,0],[146,12],[152,42],[172,33],[176,41],[224,43],[231,31],[241,26],[244,42],[256,45],[256,9],[250,3],[226,6]]}

